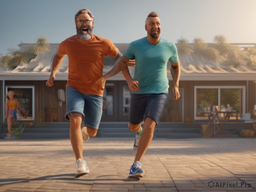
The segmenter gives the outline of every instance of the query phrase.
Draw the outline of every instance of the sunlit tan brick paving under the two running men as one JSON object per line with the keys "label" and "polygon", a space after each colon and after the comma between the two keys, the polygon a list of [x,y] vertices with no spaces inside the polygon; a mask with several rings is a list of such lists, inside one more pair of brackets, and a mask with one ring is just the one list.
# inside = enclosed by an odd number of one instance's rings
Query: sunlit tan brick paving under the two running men
{"label": "sunlit tan brick paving under the two running men", "polygon": [[132,146],[133,138],[90,138],[90,174],[74,178],[69,140],[0,140],[0,192],[256,191],[255,138],[156,138],[141,161],[143,178],[127,176]]}

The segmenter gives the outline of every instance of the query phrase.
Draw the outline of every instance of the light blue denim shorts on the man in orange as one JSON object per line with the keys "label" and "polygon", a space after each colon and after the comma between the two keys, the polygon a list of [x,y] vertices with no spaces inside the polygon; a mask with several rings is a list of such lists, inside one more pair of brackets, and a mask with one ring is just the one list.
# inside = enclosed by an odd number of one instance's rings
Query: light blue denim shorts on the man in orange
{"label": "light blue denim shorts on the man in orange", "polygon": [[73,87],[66,87],[65,119],[70,120],[67,116],[69,113],[81,113],[84,116],[84,125],[98,129],[102,117],[102,104],[102,96],[83,94]]}

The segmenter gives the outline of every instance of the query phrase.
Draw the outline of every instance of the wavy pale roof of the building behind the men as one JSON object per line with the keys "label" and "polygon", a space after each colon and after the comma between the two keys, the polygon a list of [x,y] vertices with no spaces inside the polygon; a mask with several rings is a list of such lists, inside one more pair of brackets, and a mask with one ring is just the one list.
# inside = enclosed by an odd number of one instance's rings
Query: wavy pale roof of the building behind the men
{"label": "wavy pale roof of the building behind the men", "polygon": [[[24,47],[32,46],[33,44],[20,44],[20,50]],[[115,44],[121,53],[125,52],[129,44]],[[0,79],[4,80],[15,78],[18,76],[37,76],[39,79],[47,79],[51,72],[52,58],[58,50],[59,44],[50,44],[49,51],[39,53],[28,64],[19,64],[14,70],[0,69]],[[192,46],[192,45],[191,45]],[[179,53],[179,45],[177,45]],[[240,79],[255,80],[256,79],[256,65],[239,64],[237,66],[225,65],[221,66],[221,62],[212,61],[209,58],[193,52],[191,54],[179,54],[181,64],[181,79],[204,79],[204,76],[210,78],[210,76],[225,76],[228,77],[240,77]],[[103,73],[108,72],[115,62],[114,58],[105,57],[105,66]],[[170,65],[168,64],[168,67]],[[129,67],[131,74],[134,73],[134,67]],[[170,76],[169,70],[167,70]],[[68,73],[68,58],[64,57],[64,60],[57,73],[58,76],[62,76],[61,79],[67,79]],[[245,75],[246,74],[246,75]],[[121,75],[121,76],[120,76]],[[200,76],[201,78],[198,78]],[[224,76],[222,79],[225,79]],[[184,78],[185,77],[185,78]],[[197,78],[195,78],[197,77]],[[214,80],[213,78],[212,80]],[[230,80],[232,80],[232,78]],[[113,79],[113,78],[112,78]],[[122,73],[115,79],[122,79]],[[237,79],[237,78],[236,78]]]}

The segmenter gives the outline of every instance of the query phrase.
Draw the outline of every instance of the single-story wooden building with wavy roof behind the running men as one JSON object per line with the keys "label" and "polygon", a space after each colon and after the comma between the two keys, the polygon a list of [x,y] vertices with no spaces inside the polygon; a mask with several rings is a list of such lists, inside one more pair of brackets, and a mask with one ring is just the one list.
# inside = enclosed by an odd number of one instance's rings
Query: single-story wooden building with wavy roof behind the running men
{"label": "single-story wooden building with wavy roof behind the running men", "polygon": [[[68,58],[56,75],[54,86],[47,87],[46,81],[51,72],[52,58],[59,44],[50,44],[49,51],[39,53],[28,64],[19,64],[13,70],[0,68],[0,121],[5,122],[6,92],[14,90],[20,102],[20,121],[65,122],[65,85],[68,73]],[[128,44],[115,44],[124,52]],[[20,44],[22,51],[32,44]],[[180,99],[172,99],[172,76],[168,69],[169,96],[160,123],[194,123],[207,119],[204,111],[213,106],[221,110],[235,110],[250,113],[256,104],[256,65],[241,61],[232,64],[230,58],[221,55],[218,47],[215,56],[210,58],[198,51],[195,44],[177,44],[181,63]],[[255,49],[255,44],[237,44],[242,51]],[[186,52],[186,50],[189,50]],[[217,56],[216,56],[217,54]],[[229,59],[229,63],[227,60]],[[225,60],[225,62],[224,62]],[[113,66],[115,59],[106,57],[104,72]],[[231,62],[231,63],[230,63]],[[170,65],[168,64],[168,68]],[[129,67],[131,75],[134,67]],[[122,73],[106,81],[102,122],[128,122],[130,94]]]}

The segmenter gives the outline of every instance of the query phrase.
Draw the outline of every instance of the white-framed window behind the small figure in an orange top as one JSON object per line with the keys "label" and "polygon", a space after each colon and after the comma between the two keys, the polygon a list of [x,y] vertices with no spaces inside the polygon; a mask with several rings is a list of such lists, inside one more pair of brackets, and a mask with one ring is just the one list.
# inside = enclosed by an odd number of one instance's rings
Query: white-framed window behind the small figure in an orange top
{"label": "white-framed window behind the small figure in an orange top", "polygon": [[6,86],[6,93],[12,90],[19,102],[18,120],[35,119],[35,90],[34,86]]}

